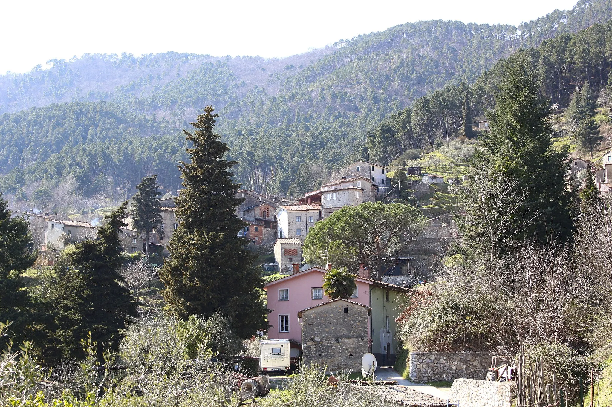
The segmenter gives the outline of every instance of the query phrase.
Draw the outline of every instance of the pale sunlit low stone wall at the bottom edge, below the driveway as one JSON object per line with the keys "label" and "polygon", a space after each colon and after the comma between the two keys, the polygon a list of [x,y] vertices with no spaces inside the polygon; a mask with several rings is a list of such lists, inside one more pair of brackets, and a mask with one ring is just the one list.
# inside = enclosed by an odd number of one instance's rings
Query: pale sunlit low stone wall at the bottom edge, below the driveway
{"label": "pale sunlit low stone wall at the bottom edge, below the driveway", "polygon": [[517,397],[517,384],[513,381],[455,379],[450,387],[449,400],[461,407],[510,407]]}

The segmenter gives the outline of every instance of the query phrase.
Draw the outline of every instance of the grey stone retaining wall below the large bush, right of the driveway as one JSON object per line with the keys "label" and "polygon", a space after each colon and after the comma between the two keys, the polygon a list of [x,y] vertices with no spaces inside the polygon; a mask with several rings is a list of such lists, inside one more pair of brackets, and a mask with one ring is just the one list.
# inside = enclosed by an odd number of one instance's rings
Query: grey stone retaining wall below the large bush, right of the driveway
{"label": "grey stone retaining wall below the large bush, right of the driveway", "polygon": [[411,352],[408,360],[414,383],[480,379],[487,376],[491,354],[481,352]]}

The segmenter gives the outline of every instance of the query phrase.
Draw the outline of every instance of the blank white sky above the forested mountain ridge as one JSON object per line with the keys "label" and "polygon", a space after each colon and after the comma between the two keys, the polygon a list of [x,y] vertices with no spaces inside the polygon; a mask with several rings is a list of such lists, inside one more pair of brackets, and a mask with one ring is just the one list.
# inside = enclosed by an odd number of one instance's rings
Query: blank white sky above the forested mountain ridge
{"label": "blank white sky above the forested mountain ridge", "polygon": [[84,53],[282,58],[419,20],[517,26],[576,0],[0,0],[0,73]]}

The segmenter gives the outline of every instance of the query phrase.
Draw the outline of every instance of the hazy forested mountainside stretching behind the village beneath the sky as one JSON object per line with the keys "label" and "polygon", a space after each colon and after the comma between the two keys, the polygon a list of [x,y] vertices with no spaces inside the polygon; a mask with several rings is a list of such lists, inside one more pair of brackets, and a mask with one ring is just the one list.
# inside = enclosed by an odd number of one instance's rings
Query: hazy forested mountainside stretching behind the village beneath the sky
{"label": "hazy forested mountainside stretching behind the village beneath the sky", "polygon": [[[132,190],[141,176],[157,173],[171,192],[180,182],[179,130],[209,104],[220,114],[230,157],[240,162],[236,179],[248,188],[285,193],[300,166],[331,170],[368,154],[388,163],[457,135],[463,83],[476,83],[475,115],[490,107],[502,66],[494,64],[520,47],[554,38],[521,55],[552,75],[542,91],[556,102],[566,102],[575,80],[591,71],[599,69],[597,86],[606,83],[610,30],[597,28],[592,38],[569,33],[609,20],[611,4],[580,0],[518,29],[401,24],[285,59],[84,55],[9,73],[0,77],[2,190],[72,175],[80,180],[76,193],[91,195],[103,180]],[[57,102],[67,104],[50,104]]]}

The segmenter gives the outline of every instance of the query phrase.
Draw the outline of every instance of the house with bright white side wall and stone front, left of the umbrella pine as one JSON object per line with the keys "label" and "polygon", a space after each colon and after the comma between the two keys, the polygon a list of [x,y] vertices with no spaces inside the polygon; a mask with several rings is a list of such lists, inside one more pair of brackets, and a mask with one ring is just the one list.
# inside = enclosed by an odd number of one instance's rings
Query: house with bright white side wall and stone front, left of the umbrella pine
{"label": "house with bright white side wall and stone front, left of the umbrella pine", "polygon": [[321,205],[282,205],[275,212],[278,239],[304,242],[308,230],[321,218]]}

